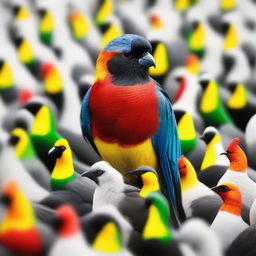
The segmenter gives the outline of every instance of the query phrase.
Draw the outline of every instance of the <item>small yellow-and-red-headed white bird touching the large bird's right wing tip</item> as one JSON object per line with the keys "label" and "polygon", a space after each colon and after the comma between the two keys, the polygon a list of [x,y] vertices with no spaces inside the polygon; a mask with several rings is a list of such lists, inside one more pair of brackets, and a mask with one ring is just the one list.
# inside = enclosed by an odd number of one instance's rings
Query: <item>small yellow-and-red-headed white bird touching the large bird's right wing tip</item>
{"label": "small yellow-and-red-headed white bird touching the large bird's right wing tip", "polygon": [[182,205],[186,217],[200,217],[211,224],[219,211],[222,201],[210,188],[197,179],[193,165],[184,156],[179,159],[179,171]]}

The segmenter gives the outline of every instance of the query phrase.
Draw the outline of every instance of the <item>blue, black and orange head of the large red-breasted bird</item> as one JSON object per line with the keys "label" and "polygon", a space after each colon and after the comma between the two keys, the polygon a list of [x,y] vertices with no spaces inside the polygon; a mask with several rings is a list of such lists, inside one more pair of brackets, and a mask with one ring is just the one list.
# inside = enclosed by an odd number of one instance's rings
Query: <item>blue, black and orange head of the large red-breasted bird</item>
{"label": "blue, black and orange head of the large red-breasted bird", "polygon": [[144,84],[150,79],[149,67],[155,66],[151,51],[150,42],[142,36],[124,34],[116,37],[100,52],[96,75],[110,75],[115,85]]}

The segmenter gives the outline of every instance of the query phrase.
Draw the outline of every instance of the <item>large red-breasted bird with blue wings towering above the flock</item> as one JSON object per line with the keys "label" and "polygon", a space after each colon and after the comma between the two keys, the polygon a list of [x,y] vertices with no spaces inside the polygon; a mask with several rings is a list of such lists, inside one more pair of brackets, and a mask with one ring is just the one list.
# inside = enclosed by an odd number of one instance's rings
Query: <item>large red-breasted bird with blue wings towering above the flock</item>
{"label": "large red-breasted bird with blue wings towering above the flock", "polygon": [[108,43],[83,100],[81,126],[100,156],[121,173],[142,165],[157,170],[161,190],[182,214],[180,143],[170,101],[148,74],[155,65],[151,49],[132,34]]}

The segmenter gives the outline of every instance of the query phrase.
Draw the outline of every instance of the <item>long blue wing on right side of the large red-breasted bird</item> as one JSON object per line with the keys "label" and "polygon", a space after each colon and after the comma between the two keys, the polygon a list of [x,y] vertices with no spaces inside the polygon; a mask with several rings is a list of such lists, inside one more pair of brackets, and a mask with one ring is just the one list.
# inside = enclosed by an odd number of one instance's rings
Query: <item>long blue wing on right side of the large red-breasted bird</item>
{"label": "long blue wing on right side of the large red-breasted bird", "polygon": [[152,143],[158,157],[163,192],[169,195],[169,198],[177,206],[181,203],[179,202],[181,195],[178,169],[178,159],[181,156],[180,140],[170,99],[158,84],[155,88],[160,124],[157,133],[152,136]]}

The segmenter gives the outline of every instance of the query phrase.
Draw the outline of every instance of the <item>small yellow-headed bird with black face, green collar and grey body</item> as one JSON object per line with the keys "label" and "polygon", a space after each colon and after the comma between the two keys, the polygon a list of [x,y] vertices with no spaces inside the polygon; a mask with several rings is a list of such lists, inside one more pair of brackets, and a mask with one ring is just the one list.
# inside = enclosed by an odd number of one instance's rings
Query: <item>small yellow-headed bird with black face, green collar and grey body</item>
{"label": "small yellow-headed bird with black face, green collar and grey body", "polygon": [[69,203],[79,215],[90,212],[96,184],[75,171],[68,141],[57,140],[48,154],[55,162],[50,180],[52,192],[40,204],[56,209]]}

